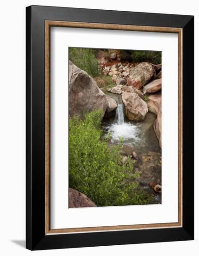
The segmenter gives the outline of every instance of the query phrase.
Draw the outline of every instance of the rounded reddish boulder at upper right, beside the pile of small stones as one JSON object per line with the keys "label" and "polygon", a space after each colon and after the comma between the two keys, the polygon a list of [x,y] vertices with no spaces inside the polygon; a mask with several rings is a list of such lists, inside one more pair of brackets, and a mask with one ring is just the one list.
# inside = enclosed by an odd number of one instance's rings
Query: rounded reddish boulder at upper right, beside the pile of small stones
{"label": "rounded reddish boulder at upper right, beside the pile of small stones", "polygon": [[136,89],[142,88],[153,77],[153,74],[153,66],[148,62],[141,62],[132,68],[127,79],[127,85]]}

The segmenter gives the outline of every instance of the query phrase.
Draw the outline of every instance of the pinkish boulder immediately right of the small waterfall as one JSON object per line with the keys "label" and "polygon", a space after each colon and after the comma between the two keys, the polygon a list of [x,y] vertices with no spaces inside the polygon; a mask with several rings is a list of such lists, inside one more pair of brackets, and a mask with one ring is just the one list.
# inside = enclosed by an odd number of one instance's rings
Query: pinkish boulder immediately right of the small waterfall
{"label": "pinkish boulder immediately right of the small waterfall", "polygon": [[136,93],[122,94],[122,101],[125,106],[125,115],[129,120],[142,121],[148,112],[147,104]]}

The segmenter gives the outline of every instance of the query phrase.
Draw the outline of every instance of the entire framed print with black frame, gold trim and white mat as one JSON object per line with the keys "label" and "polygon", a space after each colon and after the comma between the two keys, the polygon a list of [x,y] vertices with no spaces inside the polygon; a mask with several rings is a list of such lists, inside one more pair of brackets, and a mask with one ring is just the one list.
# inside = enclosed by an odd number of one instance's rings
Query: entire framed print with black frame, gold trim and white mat
{"label": "entire framed print with black frame, gold trim and white mat", "polygon": [[27,249],[192,240],[193,16],[26,22]]}

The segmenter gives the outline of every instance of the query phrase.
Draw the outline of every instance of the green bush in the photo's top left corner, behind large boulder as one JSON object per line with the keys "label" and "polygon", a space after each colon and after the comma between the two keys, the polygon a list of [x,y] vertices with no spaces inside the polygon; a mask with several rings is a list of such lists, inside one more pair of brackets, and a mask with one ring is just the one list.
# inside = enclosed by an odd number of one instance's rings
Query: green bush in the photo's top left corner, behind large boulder
{"label": "green bush in the photo's top left corner, behind large boulder", "polygon": [[96,49],[69,47],[69,60],[92,77],[99,75]]}

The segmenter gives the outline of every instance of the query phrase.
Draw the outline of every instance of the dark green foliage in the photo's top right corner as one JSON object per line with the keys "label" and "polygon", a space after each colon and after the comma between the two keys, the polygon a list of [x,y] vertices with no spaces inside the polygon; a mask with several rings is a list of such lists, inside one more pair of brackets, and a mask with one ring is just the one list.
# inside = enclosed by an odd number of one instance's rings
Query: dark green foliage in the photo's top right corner
{"label": "dark green foliage in the photo's top right corner", "polygon": [[149,61],[159,64],[162,61],[161,52],[158,51],[130,51],[133,62]]}

